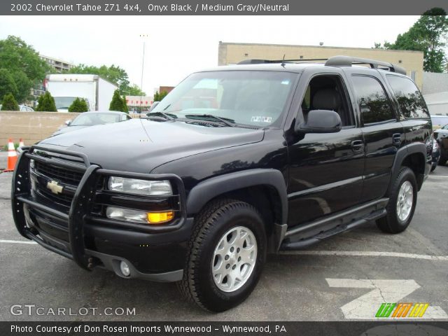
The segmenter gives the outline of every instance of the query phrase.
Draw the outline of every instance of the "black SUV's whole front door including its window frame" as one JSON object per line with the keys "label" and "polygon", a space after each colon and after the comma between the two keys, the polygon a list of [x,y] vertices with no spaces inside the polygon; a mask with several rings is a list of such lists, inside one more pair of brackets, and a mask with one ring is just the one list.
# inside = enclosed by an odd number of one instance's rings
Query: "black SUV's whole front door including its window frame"
{"label": "black SUV's whole front door including its window frame", "polygon": [[288,201],[290,227],[312,221],[360,202],[363,186],[363,135],[357,127],[340,69],[312,74],[304,71],[302,104],[297,118],[310,110],[336,111],[342,130],[305,134],[288,147]]}

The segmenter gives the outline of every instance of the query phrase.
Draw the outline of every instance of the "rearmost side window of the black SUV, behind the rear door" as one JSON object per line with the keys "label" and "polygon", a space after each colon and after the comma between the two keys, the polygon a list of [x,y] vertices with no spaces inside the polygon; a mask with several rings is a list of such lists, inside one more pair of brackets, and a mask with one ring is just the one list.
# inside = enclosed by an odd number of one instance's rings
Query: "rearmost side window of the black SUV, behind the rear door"
{"label": "rearmost side window of the black SUV, behind the rear door", "polygon": [[393,93],[400,105],[400,111],[408,119],[429,118],[428,108],[419,89],[409,78],[387,76]]}

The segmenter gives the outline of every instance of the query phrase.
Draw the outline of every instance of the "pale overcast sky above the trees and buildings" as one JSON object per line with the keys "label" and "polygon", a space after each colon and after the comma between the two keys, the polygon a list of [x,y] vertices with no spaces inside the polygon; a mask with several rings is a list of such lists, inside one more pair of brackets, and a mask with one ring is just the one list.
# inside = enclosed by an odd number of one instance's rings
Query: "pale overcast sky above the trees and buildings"
{"label": "pale overcast sky above the trees and buildings", "polygon": [[[43,55],[75,64],[116,64],[143,89],[176,85],[218,65],[218,43],[371,48],[395,41],[419,16],[0,16],[0,39],[20,36]],[[280,56],[279,56],[280,57]]]}

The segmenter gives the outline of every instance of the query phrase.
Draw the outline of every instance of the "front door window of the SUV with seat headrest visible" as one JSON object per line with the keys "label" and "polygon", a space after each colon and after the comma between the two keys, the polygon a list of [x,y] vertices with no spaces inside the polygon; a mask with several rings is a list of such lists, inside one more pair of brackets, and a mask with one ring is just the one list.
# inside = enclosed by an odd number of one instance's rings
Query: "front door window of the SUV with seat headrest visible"
{"label": "front door window of the SUV with seat headrest visible", "polygon": [[342,78],[338,75],[316,76],[310,80],[302,100],[304,120],[311,110],[330,110],[339,114],[342,127],[353,127],[355,120],[348,102]]}

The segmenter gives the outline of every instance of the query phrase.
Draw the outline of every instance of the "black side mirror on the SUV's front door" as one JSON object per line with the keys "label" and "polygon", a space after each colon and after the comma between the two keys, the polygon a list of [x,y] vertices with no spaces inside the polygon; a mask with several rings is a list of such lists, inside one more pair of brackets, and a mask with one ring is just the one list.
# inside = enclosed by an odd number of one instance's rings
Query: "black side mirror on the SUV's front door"
{"label": "black side mirror on the SUV's front door", "polygon": [[299,133],[336,133],[342,129],[341,117],[335,111],[311,110],[306,123],[296,127]]}

